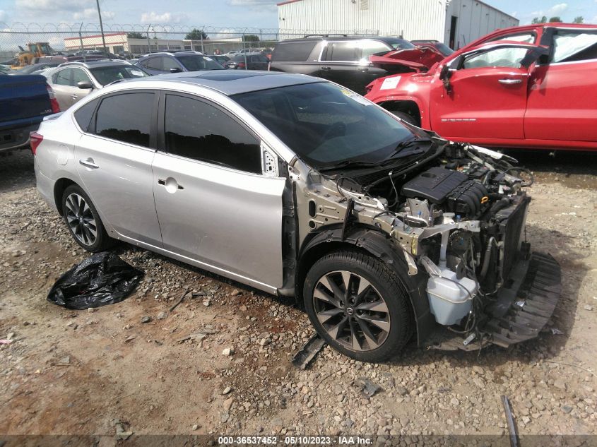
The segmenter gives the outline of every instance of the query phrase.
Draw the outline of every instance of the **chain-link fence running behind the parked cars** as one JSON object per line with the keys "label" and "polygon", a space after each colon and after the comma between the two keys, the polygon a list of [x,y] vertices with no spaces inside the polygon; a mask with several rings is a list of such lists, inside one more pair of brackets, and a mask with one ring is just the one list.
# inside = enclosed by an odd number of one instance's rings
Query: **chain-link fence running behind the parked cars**
{"label": "chain-link fence running behind the parked cars", "polygon": [[[95,23],[1,23],[0,64],[24,66],[35,57],[119,56],[133,59],[162,51],[194,50],[204,54],[273,49],[279,40],[305,35],[377,35],[377,30],[283,30],[185,25]],[[37,59],[35,59],[37,61]]]}

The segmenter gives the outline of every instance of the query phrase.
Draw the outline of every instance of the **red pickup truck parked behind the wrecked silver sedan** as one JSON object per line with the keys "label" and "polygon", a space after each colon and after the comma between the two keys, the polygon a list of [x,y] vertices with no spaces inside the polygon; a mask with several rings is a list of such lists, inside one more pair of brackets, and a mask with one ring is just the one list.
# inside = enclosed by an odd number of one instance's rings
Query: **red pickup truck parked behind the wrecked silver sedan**
{"label": "red pickup truck parked behind the wrecked silver sedan", "polygon": [[597,150],[597,25],[497,30],[433,66],[367,85],[367,99],[452,141]]}

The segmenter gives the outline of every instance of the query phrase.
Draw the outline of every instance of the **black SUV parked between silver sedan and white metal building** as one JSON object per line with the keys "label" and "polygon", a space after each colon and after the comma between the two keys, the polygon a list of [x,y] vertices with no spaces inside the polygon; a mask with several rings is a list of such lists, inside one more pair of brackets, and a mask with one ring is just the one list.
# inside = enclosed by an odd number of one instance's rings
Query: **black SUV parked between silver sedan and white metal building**
{"label": "black SUV parked between silver sedan and white metal building", "polygon": [[306,36],[278,42],[271,54],[270,70],[319,76],[363,94],[370,82],[394,74],[373,66],[369,56],[414,48],[398,37]]}

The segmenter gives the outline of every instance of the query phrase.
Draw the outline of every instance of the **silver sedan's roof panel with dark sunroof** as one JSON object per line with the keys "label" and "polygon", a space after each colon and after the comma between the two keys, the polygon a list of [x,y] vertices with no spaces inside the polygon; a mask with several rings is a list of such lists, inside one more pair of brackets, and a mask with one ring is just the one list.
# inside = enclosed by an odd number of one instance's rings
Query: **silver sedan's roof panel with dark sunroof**
{"label": "silver sedan's roof panel with dark sunroof", "polygon": [[144,83],[155,83],[156,81],[165,83],[165,86],[172,85],[172,87],[185,83],[199,85],[217,90],[227,96],[290,85],[326,82],[312,76],[278,71],[209,70],[148,76],[147,78],[122,81],[117,85],[121,85],[122,88],[143,87]]}

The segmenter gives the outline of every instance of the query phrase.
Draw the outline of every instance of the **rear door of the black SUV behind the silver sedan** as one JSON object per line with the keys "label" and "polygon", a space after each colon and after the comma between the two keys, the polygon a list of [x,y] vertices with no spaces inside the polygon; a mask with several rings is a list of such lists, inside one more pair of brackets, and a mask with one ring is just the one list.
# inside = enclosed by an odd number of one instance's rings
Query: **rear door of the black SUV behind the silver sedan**
{"label": "rear door of the black SUV behind the silver sedan", "polygon": [[356,40],[328,42],[320,56],[319,77],[358,90],[357,64],[359,43]]}

